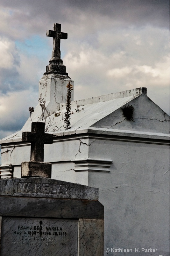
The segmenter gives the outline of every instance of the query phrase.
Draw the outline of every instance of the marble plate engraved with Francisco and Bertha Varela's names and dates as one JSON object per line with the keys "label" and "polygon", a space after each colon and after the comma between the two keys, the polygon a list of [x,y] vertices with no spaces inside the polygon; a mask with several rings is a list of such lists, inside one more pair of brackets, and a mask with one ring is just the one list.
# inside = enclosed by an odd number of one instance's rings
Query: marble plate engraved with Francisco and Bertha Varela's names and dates
{"label": "marble plate engraved with Francisco and Bertha Varela's names and dates", "polygon": [[77,256],[78,220],[2,217],[0,256]]}

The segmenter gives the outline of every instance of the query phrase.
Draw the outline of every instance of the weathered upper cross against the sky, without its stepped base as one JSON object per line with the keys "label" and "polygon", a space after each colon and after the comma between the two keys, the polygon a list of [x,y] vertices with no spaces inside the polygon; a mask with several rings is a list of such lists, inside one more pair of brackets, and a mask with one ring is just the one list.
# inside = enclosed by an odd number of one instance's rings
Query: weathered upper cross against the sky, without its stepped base
{"label": "weathered upper cross against the sky, without its stepped base", "polygon": [[61,24],[54,23],[54,30],[47,30],[46,36],[53,37],[52,59],[61,59],[60,39],[67,39],[67,33],[61,32]]}

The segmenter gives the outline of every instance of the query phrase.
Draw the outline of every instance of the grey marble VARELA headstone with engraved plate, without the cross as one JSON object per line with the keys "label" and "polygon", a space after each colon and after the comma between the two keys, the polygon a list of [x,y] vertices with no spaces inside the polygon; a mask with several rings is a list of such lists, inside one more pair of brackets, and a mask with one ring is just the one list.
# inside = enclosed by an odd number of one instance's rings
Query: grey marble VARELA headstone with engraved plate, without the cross
{"label": "grey marble VARELA headstone with engraved plate, without the cross", "polygon": [[0,180],[0,256],[102,256],[98,188],[44,177]]}

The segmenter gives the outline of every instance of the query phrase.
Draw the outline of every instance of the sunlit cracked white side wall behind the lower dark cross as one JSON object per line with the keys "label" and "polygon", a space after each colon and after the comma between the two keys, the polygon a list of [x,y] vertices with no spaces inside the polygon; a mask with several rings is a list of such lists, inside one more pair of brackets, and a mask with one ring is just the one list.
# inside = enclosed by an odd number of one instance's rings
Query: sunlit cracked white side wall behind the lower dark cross
{"label": "sunlit cracked white side wall behind the lower dark cross", "polygon": [[[88,158],[89,139],[80,137],[70,139],[59,139],[53,144],[44,145],[44,162],[51,162],[52,164],[52,178],[58,180],[65,180],[69,182],[77,182],[83,185],[88,184],[88,176],[82,175],[79,178],[79,173],[74,172],[74,163],[71,162],[73,159]],[[14,177],[20,177],[21,163],[30,161],[30,148],[31,146],[20,147],[16,145],[15,148],[11,148],[10,151],[6,152],[6,157],[3,157],[2,164],[12,164],[14,166]],[[22,150],[21,150],[22,148]],[[11,154],[11,150],[12,154]],[[5,153],[4,153],[5,154]],[[86,177],[86,178],[85,178]]]}

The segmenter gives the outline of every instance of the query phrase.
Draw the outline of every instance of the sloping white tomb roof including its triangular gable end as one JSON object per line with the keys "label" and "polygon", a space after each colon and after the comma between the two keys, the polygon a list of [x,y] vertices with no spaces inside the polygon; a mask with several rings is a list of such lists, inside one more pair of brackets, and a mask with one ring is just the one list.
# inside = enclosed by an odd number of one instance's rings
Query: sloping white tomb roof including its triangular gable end
{"label": "sloping white tomb roof including its triangular gable end", "polygon": [[[144,96],[145,99],[139,99],[141,96]],[[135,116],[132,121],[127,121],[122,112],[122,108],[129,105],[133,105],[135,108]],[[157,137],[157,139],[166,140],[169,138],[168,125],[165,125],[169,121],[169,116],[147,97],[146,88],[72,101],[71,112],[73,114],[70,116],[70,129],[63,126],[64,114],[62,113],[65,111],[66,103],[60,103],[60,108],[57,111],[60,115],[57,117],[54,114],[51,115],[53,122],[48,132],[53,133],[54,140],[55,137],[63,135],[88,132],[145,138]],[[40,115],[41,109],[39,108]],[[32,115],[32,121],[40,121],[39,116]],[[29,118],[21,131],[0,140],[0,143],[22,141],[22,132],[31,131],[32,121]]]}

